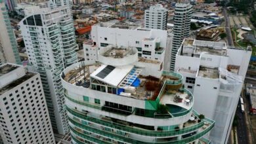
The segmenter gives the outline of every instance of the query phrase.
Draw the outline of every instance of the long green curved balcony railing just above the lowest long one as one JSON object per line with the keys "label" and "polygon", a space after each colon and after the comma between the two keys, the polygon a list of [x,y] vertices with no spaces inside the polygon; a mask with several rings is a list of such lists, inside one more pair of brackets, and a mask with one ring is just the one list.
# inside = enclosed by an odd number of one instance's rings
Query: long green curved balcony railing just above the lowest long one
{"label": "long green curved balcony railing just above the lowest long one", "polygon": [[71,113],[75,117],[81,118],[83,120],[88,120],[90,122],[95,122],[96,124],[100,124],[102,126],[108,126],[110,128],[115,128],[117,130],[123,130],[125,132],[130,132],[130,133],[139,134],[139,135],[153,136],[153,137],[166,137],[166,136],[187,134],[189,132],[193,132],[194,130],[198,130],[198,128],[202,128],[205,122],[205,120],[202,120],[202,122],[199,122],[194,126],[181,128],[179,131],[177,130],[166,130],[166,131],[142,130],[141,128],[135,128],[135,127],[126,126],[123,124],[117,124],[115,122],[110,122],[107,120],[102,120],[100,118],[90,117],[90,116],[84,115],[83,113],[74,111],[69,107],[66,107],[66,109],[68,110],[69,113]]}

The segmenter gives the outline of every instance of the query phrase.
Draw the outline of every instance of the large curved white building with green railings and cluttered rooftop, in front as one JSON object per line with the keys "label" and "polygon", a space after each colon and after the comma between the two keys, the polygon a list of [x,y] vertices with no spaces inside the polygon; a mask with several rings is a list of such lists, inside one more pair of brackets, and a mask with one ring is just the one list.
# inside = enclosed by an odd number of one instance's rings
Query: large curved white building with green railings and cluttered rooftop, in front
{"label": "large curved white building with green railings and cluttered rooftop, in front", "polygon": [[[73,143],[209,143],[214,121],[193,110],[182,75],[132,46],[108,45],[98,61],[62,72]],[[201,119],[200,119],[201,118]]]}

